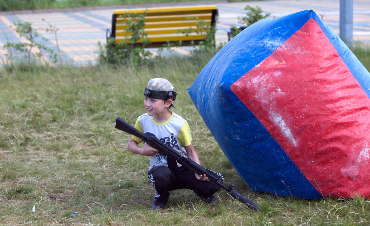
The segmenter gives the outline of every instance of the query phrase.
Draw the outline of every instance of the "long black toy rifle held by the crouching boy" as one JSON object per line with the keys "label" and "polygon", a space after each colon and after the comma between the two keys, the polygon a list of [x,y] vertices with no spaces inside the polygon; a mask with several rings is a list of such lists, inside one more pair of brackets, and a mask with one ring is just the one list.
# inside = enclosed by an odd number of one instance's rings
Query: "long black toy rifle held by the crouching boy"
{"label": "long black toy rifle held by the crouching boy", "polygon": [[176,162],[188,168],[189,170],[195,172],[196,174],[199,175],[206,174],[210,181],[217,184],[221,188],[225,189],[227,192],[229,192],[229,194],[233,198],[238,199],[240,202],[242,202],[243,204],[245,204],[246,206],[253,210],[260,210],[260,206],[257,203],[253,202],[244,195],[240,194],[240,192],[233,189],[232,188],[233,185],[231,185],[229,188],[223,185],[222,179],[219,178],[219,176],[215,172],[203,168],[201,165],[194,162],[193,160],[191,160],[191,158],[187,157],[186,155],[179,154],[171,147],[168,147],[166,144],[159,141],[157,137],[141,133],[139,130],[135,129],[135,127],[131,126],[130,124],[122,120],[120,117],[117,117],[115,127],[119,130],[125,131],[126,133],[139,137],[140,139],[148,143],[151,147],[157,149],[160,154],[175,159]]}

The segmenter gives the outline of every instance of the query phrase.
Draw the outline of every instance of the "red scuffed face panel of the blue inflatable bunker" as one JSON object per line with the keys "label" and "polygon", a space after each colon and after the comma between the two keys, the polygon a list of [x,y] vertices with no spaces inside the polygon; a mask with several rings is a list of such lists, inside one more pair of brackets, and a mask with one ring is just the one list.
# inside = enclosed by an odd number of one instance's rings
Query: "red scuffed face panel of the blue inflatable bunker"
{"label": "red scuffed face panel of the blue inflatable bunker", "polygon": [[315,20],[231,89],[323,196],[370,194],[370,100]]}

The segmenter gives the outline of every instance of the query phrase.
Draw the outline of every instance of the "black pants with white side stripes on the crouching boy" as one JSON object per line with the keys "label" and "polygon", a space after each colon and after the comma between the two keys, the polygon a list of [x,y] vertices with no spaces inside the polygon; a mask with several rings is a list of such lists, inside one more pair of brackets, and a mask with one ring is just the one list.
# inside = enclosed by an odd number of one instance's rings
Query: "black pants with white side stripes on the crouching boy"
{"label": "black pants with white side stripes on the crouching boy", "polygon": [[[194,172],[185,167],[179,167],[180,177],[168,167],[157,166],[148,171],[148,178],[155,190],[155,199],[168,201],[169,191],[176,189],[190,189],[201,198],[212,196],[221,188],[211,181],[199,181]],[[222,175],[220,178],[223,179]]]}

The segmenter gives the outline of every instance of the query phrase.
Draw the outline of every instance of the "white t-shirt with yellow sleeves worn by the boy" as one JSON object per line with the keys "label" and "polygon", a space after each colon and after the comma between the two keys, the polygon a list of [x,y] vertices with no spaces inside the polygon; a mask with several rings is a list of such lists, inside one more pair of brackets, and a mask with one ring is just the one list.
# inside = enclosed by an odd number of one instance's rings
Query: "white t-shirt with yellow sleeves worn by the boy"
{"label": "white t-shirt with yellow sleeves worn by the boy", "polygon": [[[176,150],[179,154],[184,153],[186,155],[185,147],[190,145],[192,141],[189,124],[178,114],[171,113],[171,117],[164,123],[156,123],[152,116],[143,114],[138,117],[135,128],[142,133],[154,134],[160,141]],[[135,136],[132,136],[132,139],[137,143],[142,142],[140,138]],[[149,170],[159,165],[168,167],[167,157],[159,153],[151,156],[149,163]],[[180,165],[178,164],[178,166]]]}

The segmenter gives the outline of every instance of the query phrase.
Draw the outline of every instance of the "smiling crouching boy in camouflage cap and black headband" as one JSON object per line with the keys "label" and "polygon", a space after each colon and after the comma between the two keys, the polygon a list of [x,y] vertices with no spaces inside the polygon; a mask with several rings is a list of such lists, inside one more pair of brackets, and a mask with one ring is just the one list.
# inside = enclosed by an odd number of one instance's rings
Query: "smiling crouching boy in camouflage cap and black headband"
{"label": "smiling crouching boy in camouflage cap and black headband", "polygon": [[[200,164],[198,154],[192,144],[191,131],[188,123],[178,114],[169,111],[174,107],[176,92],[169,81],[163,78],[151,79],[144,91],[144,106],[146,114],[141,115],[135,128],[142,133],[152,133],[157,138],[178,151],[184,153],[196,163]],[[169,191],[175,189],[191,189],[206,203],[217,203],[213,194],[220,190],[215,183],[209,182],[206,175],[197,175],[167,156],[158,153],[158,150],[145,144],[139,147],[142,140],[131,136],[127,149],[133,153],[150,156],[148,178],[155,190],[151,208],[164,209],[169,198]],[[221,174],[218,174],[223,179]]]}

